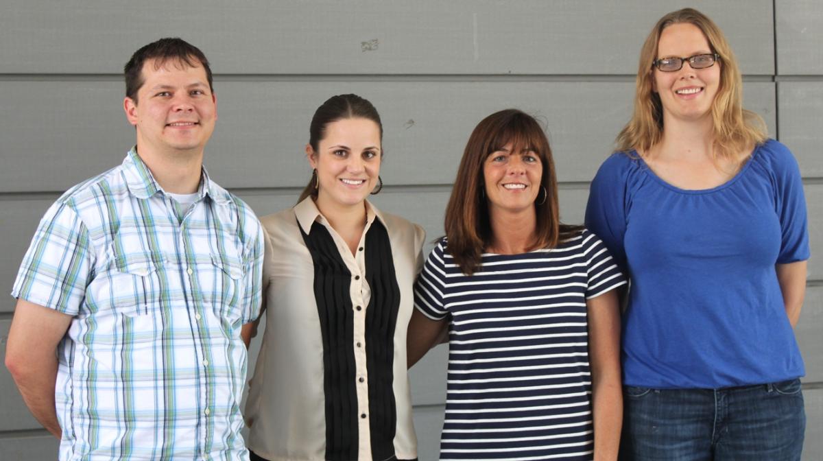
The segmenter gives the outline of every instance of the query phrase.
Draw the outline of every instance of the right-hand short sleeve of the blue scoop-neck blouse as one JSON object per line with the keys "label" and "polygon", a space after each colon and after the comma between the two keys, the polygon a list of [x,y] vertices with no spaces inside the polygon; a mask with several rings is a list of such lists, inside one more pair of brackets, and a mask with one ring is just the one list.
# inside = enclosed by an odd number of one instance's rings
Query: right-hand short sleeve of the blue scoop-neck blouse
{"label": "right-hand short sleeve of the blue scoop-neck blouse", "polygon": [[800,168],[788,147],[773,142],[783,151],[774,161],[775,205],[780,221],[780,253],[777,263],[787,264],[809,258],[806,198]]}

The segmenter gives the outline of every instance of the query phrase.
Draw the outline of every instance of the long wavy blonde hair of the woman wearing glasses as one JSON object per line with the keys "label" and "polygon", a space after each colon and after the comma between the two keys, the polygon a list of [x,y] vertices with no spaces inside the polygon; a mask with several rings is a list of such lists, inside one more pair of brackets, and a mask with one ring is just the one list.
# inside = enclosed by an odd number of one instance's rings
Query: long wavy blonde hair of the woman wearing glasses
{"label": "long wavy blonde hair of the woman wearing glasses", "polygon": [[[713,53],[720,57],[720,84],[712,102],[714,156],[738,160],[738,154],[766,140],[766,127],[759,115],[742,106],[742,77],[737,59],[723,32],[703,13],[683,8],[660,18],[640,49],[640,62],[635,82],[635,110],[629,123],[617,135],[618,151],[649,151],[663,139],[663,105],[660,95],[652,90],[654,61],[658,58],[658,43],[663,30],[672,24],[696,26]],[[683,63],[684,66],[689,65]]]}

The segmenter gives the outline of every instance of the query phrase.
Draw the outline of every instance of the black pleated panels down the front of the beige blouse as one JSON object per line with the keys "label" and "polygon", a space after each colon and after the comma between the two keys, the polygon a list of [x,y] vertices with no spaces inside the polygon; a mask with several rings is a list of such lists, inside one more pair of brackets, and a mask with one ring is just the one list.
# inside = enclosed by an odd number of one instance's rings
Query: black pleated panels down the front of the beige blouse
{"label": "black pleated panels down the front of the beige blouse", "polygon": [[[303,235],[314,262],[314,298],[323,337],[326,397],[326,459],[358,459],[357,391],[351,271],[325,226],[314,222]],[[397,409],[393,390],[394,330],[400,288],[388,232],[374,220],[365,236],[365,277],[371,289],[365,316],[366,369],[373,459],[394,456]]]}

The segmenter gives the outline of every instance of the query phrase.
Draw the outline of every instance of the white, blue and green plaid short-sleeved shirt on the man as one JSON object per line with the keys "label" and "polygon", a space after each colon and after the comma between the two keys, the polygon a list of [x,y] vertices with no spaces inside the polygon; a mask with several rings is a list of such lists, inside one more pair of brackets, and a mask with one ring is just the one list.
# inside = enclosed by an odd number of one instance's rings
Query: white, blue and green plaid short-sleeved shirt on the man
{"label": "white, blue and green plaid short-sleeved shirt on the man", "polygon": [[213,183],[179,218],[132,149],[40,221],[12,296],[74,317],[58,347],[60,459],[248,459],[246,349],[263,231]]}

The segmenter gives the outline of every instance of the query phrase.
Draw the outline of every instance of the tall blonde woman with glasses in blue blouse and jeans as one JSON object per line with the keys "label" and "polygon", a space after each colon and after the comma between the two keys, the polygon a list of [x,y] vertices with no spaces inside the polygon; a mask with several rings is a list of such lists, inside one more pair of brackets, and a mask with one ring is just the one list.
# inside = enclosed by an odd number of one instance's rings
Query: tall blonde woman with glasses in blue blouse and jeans
{"label": "tall blonde woman with glasses in blue blouse and jeans", "polygon": [[793,334],[809,258],[797,162],[742,109],[723,33],[692,9],[640,52],[635,113],[586,225],[630,275],[627,459],[800,459]]}

